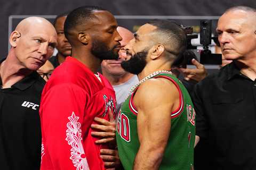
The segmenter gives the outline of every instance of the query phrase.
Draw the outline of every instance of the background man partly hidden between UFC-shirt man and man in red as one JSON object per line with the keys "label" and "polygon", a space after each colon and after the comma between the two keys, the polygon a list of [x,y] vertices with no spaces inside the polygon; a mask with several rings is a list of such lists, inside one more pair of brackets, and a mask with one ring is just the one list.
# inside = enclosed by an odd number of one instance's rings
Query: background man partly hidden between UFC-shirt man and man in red
{"label": "background man partly hidden between UFC-shirt man and man in red", "polygon": [[67,15],[68,13],[58,15],[53,23],[58,35],[58,45],[56,47],[58,49],[58,54],[49,58],[49,61],[52,63],[54,68],[63,63],[67,56],[71,55],[71,45],[68,43],[68,40],[64,35],[64,22],[67,18]]}

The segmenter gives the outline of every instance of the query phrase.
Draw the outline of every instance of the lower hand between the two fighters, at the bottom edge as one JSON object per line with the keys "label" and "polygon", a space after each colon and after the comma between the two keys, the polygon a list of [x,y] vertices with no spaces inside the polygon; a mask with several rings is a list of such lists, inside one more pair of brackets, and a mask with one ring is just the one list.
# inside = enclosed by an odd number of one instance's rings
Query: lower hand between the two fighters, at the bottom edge
{"label": "lower hand between the two fighters, at the bottom edge", "polygon": [[118,151],[113,149],[101,149],[100,157],[102,158],[106,170],[115,170],[121,166]]}

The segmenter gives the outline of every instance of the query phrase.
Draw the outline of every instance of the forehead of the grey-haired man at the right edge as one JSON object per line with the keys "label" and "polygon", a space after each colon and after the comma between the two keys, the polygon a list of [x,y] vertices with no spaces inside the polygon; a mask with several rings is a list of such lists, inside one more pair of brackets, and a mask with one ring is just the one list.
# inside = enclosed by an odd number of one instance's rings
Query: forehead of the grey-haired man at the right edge
{"label": "forehead of the grey-haired man at the right edge", "polygon": [[217,30],[246,28],[246,25],[250,24],[252,23],[248,13],[243,11],[231,11],[220,17]]}

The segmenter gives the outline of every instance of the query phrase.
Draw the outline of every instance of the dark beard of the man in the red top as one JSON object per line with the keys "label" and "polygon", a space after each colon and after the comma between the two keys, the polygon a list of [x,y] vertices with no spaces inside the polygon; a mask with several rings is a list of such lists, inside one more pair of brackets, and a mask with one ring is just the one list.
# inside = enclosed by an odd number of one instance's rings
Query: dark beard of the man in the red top
{"label": "dark beard of the man in the red top", "polygon": [[114,52],[114,48],[108,49],[105,43],[94,40],[92,43],[91,53],[100,60],[117,60],[118,53]]}

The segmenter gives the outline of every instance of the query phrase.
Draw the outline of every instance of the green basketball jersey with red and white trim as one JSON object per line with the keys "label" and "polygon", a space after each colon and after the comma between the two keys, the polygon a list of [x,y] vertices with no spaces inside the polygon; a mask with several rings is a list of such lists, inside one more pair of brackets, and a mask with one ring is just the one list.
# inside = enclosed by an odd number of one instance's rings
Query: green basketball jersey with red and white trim
{"label": "green basketball jersey with red and white trim", "polygon": [[[188,91],[181,81],[170,73],[159,73],[153,78],[166,78],[172,81],[179,90],[180,100],[179,108],[171,113],[170,136],[159,169],[194,169],[195,110]],[[133,104],[133,95],[134,92],[123,103],[117,116],[116,126],[119,157],[126,170],[132,169],[140,147],[137,131],[139,113]]]}

